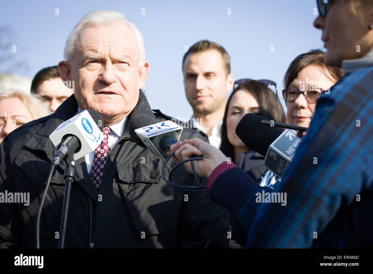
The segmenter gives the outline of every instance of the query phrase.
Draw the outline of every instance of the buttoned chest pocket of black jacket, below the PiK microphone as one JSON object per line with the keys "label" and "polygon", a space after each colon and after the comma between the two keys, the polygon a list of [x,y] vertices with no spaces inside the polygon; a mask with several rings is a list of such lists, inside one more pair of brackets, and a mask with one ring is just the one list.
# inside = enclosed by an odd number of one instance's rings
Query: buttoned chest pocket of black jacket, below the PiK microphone
{"label": "buttoned chest pocket of black jacket, below the PiK microphone", "polygon": [[[119,187],[138,237],[144,233],[148,237],[177,230],[184,192],[162,179],[159,159],[116,169]],[[170,166],[166,168],[165,174],[169,171]]]}

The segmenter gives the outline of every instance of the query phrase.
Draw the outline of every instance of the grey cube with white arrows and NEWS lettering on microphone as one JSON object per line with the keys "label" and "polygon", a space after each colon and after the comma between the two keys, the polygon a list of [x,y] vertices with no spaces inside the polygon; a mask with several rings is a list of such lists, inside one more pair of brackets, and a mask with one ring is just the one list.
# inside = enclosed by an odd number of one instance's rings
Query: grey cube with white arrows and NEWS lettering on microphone
{"label": "grey cube with white arrows and NEWS lettering on microphone", "polygon": [[295,130],[286,129],[270,144],[264,158],[264,166],[281,178],[301,141]]}

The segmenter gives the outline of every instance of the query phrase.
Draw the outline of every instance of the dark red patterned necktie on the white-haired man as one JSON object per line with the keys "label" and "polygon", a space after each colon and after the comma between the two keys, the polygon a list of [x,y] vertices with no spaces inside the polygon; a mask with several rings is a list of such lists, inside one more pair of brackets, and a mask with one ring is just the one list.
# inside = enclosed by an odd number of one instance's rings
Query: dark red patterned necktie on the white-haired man
{"label": "dark red patterned necktie on the white-haired man", "polygon": [[109,136],[110,130],[111,129],[108,126],[105,126],[103,128],[102,133],[104,134],[104,139],[94,151],[91,167],[91,179],[96,187],[97,192],[100,190],[102,177],[104,175],[106,159],[110,152],[110,147],[107,142],[107,137]]}

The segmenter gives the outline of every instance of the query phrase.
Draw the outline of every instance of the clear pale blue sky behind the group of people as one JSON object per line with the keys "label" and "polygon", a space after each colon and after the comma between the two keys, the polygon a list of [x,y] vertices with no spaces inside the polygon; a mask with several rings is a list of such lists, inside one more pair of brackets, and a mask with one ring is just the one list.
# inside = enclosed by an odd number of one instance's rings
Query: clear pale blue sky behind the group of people
{"label": "clear pale blue sky behind the group of people", "polygon": [[32,78],[41,68],[63,60],[66,38],[87,12],[118,10],[144,37],[150,63],[145,93],[150,106],[173,117],[190,117],[181,71],[185,45],[204,39],[217,42],[231,56],[235,79],[271,79],[281,91],[290,62],[298,54],[323,49],[321,31],[313,26],[314,8],[315,0],[15,0],[1,4],[0,26],[12,28],[11,44],[16,45],[16,53],[11,48],[6,53],[13,54],[6,56],[12,58],[9,66],[27,65],[28,69],[17,72]]}

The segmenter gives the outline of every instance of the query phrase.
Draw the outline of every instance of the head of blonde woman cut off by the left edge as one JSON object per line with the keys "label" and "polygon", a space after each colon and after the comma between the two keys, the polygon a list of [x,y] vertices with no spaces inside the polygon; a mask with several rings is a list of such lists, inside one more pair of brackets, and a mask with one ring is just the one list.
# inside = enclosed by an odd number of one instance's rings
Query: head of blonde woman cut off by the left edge
{"label": "head of blonde woman cut off by the left edge", "polygon": [[20,90],[0,93],[0,142],[17,127],[48,114],[38,96]]}

